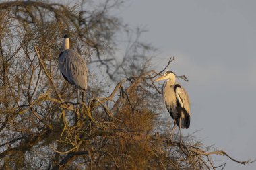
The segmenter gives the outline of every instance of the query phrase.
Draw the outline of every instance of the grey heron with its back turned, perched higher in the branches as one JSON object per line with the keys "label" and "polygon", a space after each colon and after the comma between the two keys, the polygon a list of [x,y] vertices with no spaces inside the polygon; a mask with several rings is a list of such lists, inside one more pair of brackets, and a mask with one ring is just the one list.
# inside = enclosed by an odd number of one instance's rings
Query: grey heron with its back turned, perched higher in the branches
{"label": "grey heron with its back turned, perched higher in the branches", "polygon": [[61,74],[75,88],[87,89],[87,73],[86,62],[78,52],[69,49],[69,36],[64,36],[64,42],[59,54],[59,70]]}

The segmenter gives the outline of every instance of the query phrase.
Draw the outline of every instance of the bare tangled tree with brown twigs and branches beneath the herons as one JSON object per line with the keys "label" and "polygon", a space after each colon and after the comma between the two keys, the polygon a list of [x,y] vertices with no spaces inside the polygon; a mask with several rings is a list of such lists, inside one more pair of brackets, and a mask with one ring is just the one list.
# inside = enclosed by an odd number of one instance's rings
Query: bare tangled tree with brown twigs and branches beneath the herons
{"label": "bare tangled tree with brown twigs and branches beneath the herons", "polygon": [[[121,3],[0,3],[1,169],[217,169],[210,155],[251,163],[190,135],[169,140],[153,82],[166,68],[148,70],[155,49],[139,40],[143,30],[110,15]],[[127,35],[123,54],[120,32]],[[94,69],[82,101],[59,73],[65,34]]]}

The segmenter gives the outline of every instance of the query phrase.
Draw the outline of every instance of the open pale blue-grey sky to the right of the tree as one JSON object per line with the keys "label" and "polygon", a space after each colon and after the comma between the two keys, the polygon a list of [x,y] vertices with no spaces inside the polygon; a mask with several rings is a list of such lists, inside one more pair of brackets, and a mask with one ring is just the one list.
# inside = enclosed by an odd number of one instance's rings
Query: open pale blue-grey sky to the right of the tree
{"label": "open pale blue-grey sky to the right of the tree", "polygon": [[[206,145],[236,159],[256,159],[256,1],[127,1],[117,17],[146,28],[142,40],[158,48],[152,68],[185,74],[191,127]],[[167,113],[167,111],[166,111]],[[256,169],[222,156],[225,169]],[[224,163],[216,161],[216,165]]]}

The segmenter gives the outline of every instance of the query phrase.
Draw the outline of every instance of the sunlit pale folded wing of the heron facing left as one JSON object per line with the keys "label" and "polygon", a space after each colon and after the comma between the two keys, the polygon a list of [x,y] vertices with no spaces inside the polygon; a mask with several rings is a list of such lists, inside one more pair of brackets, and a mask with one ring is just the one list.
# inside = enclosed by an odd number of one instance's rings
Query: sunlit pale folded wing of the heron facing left
{"label": "sunlit pale folded wing of the heron facing left", "polygon": [[189,101],[189,95],[187,94],[187,91],[181,85],[177,85],[175,88],[176,93],[176,99],[177,103],[181,106],[181,108],[184,108],[187,112],[187,114],[190,114],[190,101]]}

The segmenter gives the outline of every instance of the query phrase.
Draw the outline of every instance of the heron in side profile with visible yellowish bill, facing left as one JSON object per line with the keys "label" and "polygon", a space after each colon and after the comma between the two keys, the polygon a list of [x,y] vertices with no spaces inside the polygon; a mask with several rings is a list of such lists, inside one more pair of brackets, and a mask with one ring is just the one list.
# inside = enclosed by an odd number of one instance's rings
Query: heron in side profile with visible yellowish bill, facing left
{"label": "heron in side profile with visible yellowish bill, facing left", "polygon": [[[160,80],[166,80],[162,86],[162,98],[170,116],[174,120],[172,134],[176,123],[180,128],[181,134],[181,128],[189,128],[190,125],[189,95],[179,83],[176,83],[176,75],[172,71],[167,70],[164,75],[155,81]],[[172,134],[170,138],[172,138]]]}

